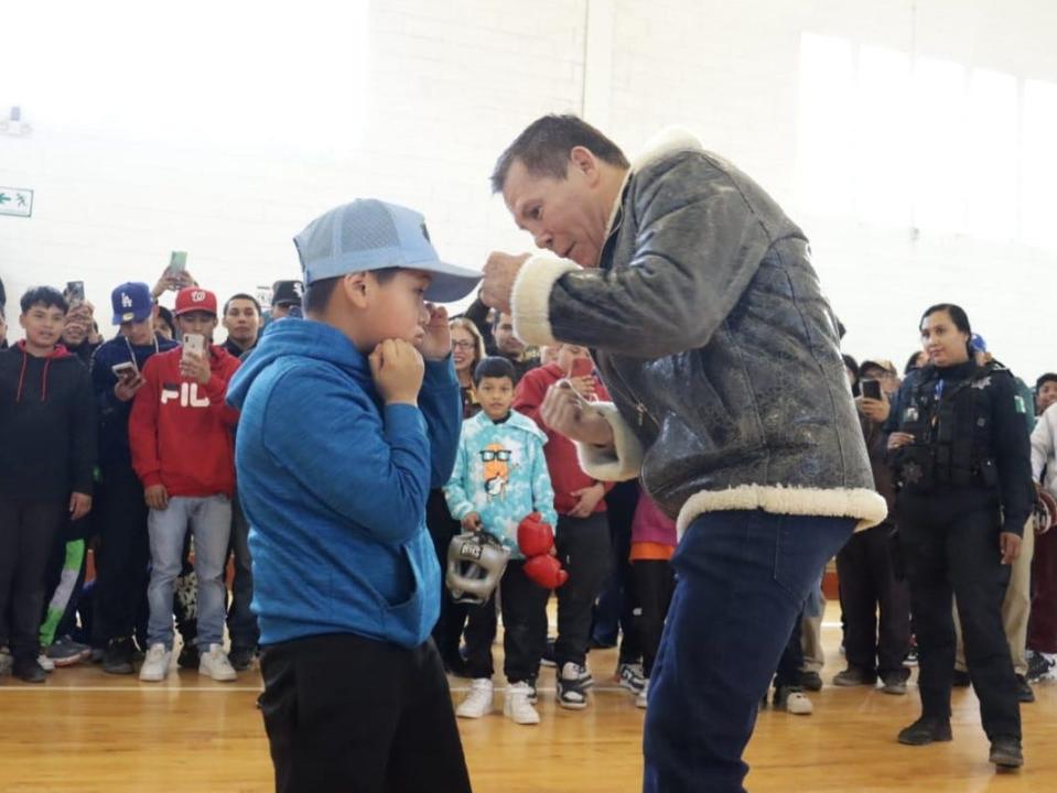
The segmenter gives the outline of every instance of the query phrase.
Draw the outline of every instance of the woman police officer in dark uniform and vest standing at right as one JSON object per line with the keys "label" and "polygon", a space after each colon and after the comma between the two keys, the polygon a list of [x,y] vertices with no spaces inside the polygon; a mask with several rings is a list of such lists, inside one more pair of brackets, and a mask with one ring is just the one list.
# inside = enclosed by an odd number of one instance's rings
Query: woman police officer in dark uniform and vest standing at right
{"label": "woman police officer in dark uniform and vest standing at right", "polygon": [[974,361],[959,306],[928,308],[920,330],[929,363],[904,382],[886,425],[923,710],[899,742],[951,739],[953,594],[991,762],[1015,768],[1021,716],[1001,604],[1034,502],[1026,406],[1009,370]]}

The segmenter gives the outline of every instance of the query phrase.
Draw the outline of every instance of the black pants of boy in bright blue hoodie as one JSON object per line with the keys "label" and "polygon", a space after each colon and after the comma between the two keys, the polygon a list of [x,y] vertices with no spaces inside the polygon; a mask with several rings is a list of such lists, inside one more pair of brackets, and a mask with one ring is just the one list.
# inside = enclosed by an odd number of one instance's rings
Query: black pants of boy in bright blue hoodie
{"label": "black pants of boy in bright blue hoodie", "polygon": [[279,793],[470,791],[444,666],[352,633],[262,648],[260,698]]}

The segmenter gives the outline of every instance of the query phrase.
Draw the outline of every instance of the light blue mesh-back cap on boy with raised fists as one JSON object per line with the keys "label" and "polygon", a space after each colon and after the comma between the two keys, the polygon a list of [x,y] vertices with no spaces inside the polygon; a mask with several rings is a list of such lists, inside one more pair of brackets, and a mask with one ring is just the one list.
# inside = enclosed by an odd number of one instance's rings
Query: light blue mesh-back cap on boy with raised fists
{"label": "light blue mesh-back cap on boy with raised fists", "polygon": [[375,198],[331,209],[310,222],[293,243],[305,285],[354,272],[406,268],[432,274],[427,300],[451,303],[470,294],[482,276],[440,260],[419,213]]}

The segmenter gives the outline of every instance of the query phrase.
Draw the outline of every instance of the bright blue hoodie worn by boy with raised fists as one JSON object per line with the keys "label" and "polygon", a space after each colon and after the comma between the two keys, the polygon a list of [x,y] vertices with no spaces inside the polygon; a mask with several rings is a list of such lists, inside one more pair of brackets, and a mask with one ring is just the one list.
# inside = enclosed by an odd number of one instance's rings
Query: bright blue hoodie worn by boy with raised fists
{"label": "bright blue hoodie worn by boy with raised fists", "polygon": [[418,408],[386,405],[341,332],[280,322],[227,401],[241,411],[235,465],[261,644],[425,641],[441,591],[425,500],[451,476],[462,420],[451,359],[427,361]]}

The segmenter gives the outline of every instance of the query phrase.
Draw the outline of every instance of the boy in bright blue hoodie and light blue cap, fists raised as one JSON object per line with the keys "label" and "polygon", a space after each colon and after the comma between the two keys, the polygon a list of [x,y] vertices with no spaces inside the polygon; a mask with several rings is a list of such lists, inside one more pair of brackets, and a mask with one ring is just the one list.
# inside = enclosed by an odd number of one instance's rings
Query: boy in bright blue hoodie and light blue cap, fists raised
{"label": "boy in bright blue hoodie and light blue cap, fists raised", "polygon": [[294,243],[305,321],[269,326],[227,395],[276,789],[468,791],[425,529],[462,401],[447,314],[425,300],[479,275],[438,259],[421,215],[373,199]]}

